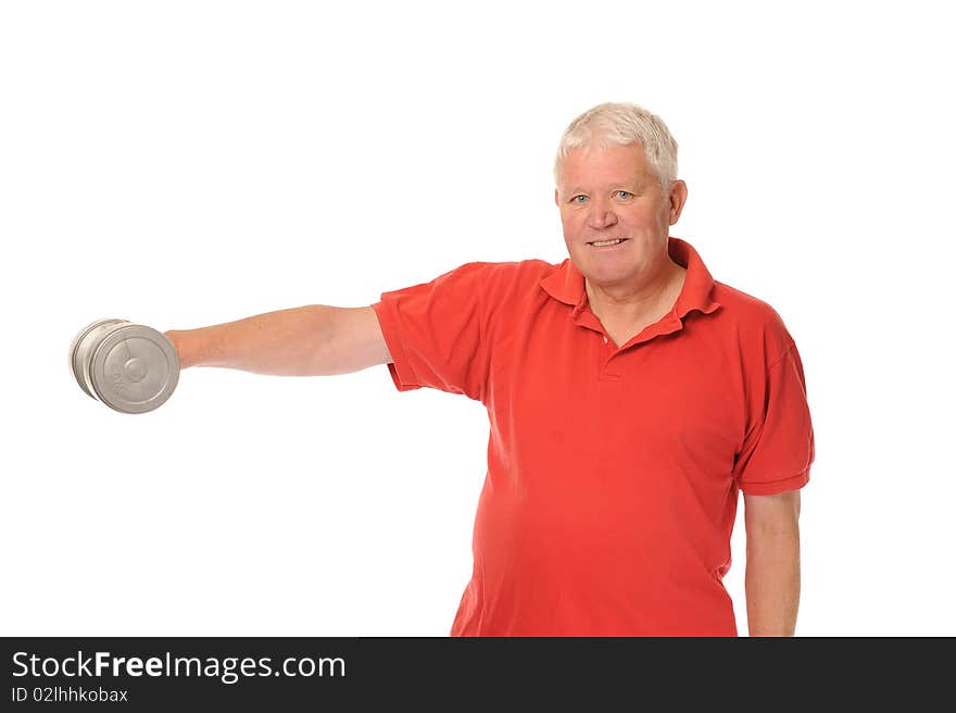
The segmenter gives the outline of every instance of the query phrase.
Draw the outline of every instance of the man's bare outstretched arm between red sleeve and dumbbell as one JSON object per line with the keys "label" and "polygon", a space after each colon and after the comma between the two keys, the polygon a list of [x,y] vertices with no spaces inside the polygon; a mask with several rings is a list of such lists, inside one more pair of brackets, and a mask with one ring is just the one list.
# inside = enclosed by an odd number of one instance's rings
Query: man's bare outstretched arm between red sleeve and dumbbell
{"label": "man's bare outstretched arm between red sleeve and dumbbell", "polygon": [[310,304],[164,334],[176,347],[181,368],[219,366],[278,376],[329,376],[391,362],[370,307]]}

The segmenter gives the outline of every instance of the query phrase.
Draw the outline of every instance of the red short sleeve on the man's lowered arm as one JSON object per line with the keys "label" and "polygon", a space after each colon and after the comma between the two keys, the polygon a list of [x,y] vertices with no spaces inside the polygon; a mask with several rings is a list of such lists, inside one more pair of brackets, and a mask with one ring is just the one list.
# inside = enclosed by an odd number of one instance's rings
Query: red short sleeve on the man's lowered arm
{"label": "red short sleeve on the man's lowered arm", "polygon": [[747,434],[734,460],[734,477],[746,495],[777,495],[809,481],[814,429],[803,363],[791,341],[754,378]]}

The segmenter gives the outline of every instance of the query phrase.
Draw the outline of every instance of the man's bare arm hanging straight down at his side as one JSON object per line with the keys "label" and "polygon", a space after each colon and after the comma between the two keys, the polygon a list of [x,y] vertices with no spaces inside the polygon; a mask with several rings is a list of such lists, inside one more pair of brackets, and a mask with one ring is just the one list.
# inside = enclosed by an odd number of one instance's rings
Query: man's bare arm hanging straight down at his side
{"label": "man's bare arm hanging straight down at his side", "polygon": [[751,636],[793,636],[800,606],[800,490],[744,493]]}

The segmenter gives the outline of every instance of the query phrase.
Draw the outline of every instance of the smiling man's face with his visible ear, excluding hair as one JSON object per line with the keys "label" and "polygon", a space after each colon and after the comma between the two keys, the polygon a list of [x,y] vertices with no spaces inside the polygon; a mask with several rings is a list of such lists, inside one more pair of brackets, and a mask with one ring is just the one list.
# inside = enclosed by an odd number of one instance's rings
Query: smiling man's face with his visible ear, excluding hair
{"label": "smiling man's face with his visible ear, excluding hair", "polygon": [[[665,198],[640,145],[582,147],[561,166],[554,202],[564,241],[593,285],[626,285],[667,255],[668,226],[677,222],[687,187],[675,182]],[[595,241],[622,238],[611,246]]]}

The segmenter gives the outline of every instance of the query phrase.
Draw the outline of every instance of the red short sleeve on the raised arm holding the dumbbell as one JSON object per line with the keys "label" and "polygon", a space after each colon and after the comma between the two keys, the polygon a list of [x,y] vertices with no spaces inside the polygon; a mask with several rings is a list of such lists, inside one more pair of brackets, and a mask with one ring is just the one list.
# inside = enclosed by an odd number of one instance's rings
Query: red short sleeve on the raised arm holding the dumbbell
{"label": "red short sleeve on the raised arm holding the dumbbell", "polygon": [[483,400],[489,348],[486,292],[494,263],[467,263],[430,283],[382,292],[378,316],[399,391],[429,387]]}

